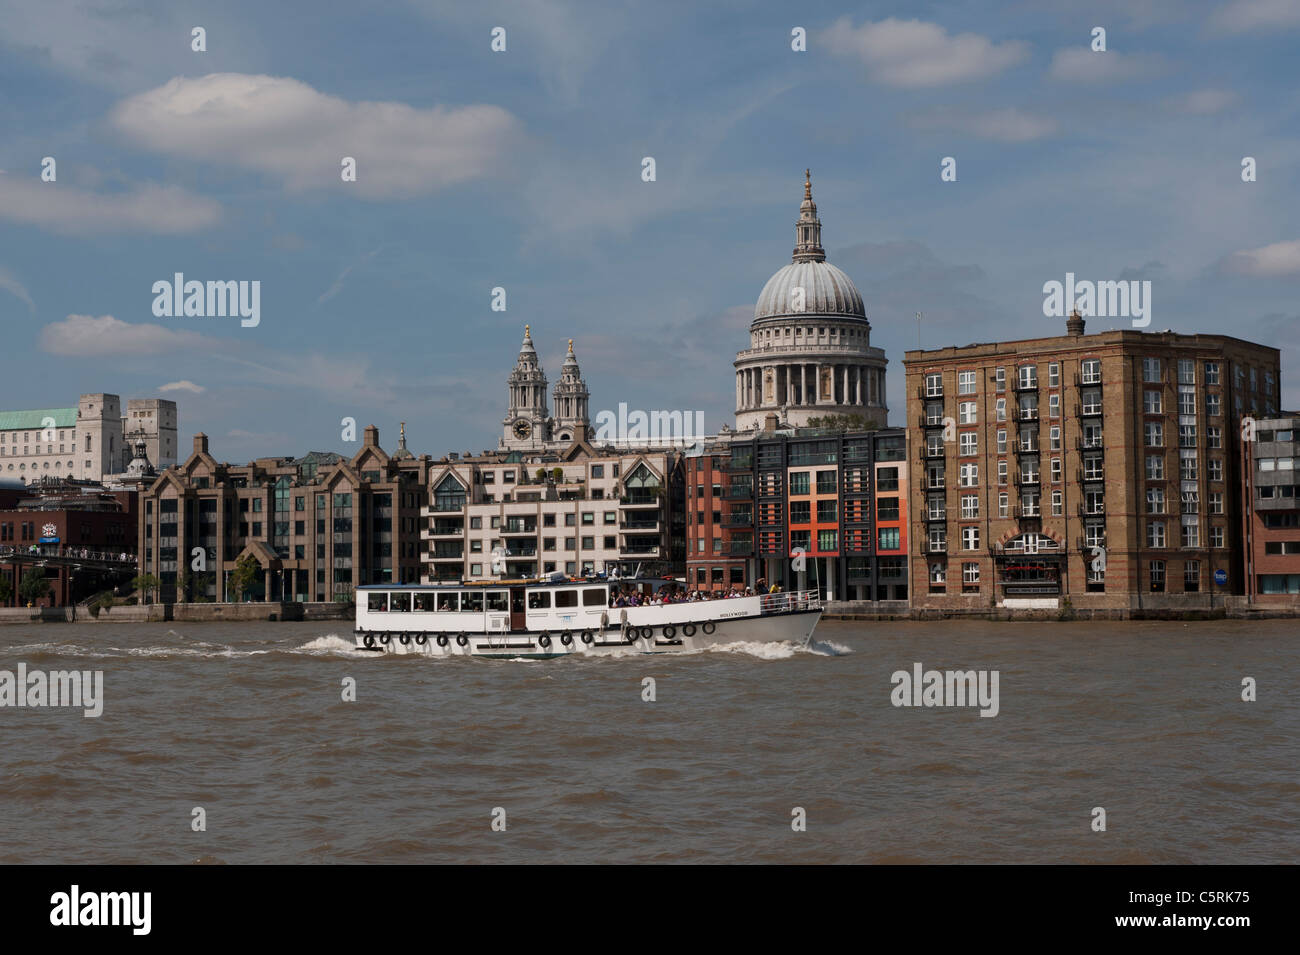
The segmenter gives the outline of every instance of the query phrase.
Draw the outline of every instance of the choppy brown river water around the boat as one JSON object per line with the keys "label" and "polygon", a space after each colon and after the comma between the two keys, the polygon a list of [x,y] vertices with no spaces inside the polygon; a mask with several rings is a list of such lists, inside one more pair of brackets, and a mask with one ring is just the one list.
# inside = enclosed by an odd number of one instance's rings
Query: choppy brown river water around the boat
{"label": "choppy brown river water around the boat", "polygon": [[[0,708],[4,863],[1300,858],[1291,620],[824,621],[811,650],[542,661],[377,657],[339,622],[0,628],[20,663],[101,670],[104,699]],[[997,670],[997,716],[894,707],[915,663]]]}

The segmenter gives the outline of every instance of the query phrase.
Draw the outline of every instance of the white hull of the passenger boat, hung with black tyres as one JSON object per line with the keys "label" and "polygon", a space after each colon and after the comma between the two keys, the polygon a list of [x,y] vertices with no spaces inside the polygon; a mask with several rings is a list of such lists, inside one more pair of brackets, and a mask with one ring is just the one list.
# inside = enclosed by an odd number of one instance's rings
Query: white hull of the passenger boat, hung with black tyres
{"label": "white hull of the passenger boat, hung with black tyres", "polygon": [[[806,646],[822,618],[820,609],[764,613],[751,617],[708,620],[701,624],[660,624],[655,626],[611,626],[606,630],[569,633],[356,633],[358,650],[407,656],[486,656],[536,657],[601,656],[618,654],[673,654],[728,643],[797,643]],[[706,633],[706,630],[708,633]],[[688,633],[689,631],[689,633]],[[385,641],[385,637],[387,638]],[[445,646],[443,646],[445,641]],[[549,643],[550,646],[546,646]]]}

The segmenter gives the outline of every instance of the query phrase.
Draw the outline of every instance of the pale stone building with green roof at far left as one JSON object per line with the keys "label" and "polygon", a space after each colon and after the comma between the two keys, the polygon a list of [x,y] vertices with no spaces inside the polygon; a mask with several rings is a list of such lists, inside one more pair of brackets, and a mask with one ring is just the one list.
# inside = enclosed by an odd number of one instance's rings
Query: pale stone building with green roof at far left
{"label": "pale stone building with green roof at far left", "polygon": [[104,481],[125,474],[143,442],[148,461],[176,464],[176,401],[82,395],[75,408],[0,412],[0,477]]}

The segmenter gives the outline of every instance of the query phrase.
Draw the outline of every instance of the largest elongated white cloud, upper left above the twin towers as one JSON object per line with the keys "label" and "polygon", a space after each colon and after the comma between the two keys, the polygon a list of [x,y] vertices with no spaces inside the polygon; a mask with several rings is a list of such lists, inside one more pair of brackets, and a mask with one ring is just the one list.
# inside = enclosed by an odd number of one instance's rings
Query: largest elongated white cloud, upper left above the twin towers
{"label": "largest elongated white cloud, upper left above the twin towers", "polygon": [[[334,188],[368,199],[415,196],[489,174],[520,138],[494,105],[416,109],[348,103],[287,77],[176,77],[118,103],[112,125],[138,146],[230,164],[290,190]],[[341,179],[356,160],[356,182]]]}

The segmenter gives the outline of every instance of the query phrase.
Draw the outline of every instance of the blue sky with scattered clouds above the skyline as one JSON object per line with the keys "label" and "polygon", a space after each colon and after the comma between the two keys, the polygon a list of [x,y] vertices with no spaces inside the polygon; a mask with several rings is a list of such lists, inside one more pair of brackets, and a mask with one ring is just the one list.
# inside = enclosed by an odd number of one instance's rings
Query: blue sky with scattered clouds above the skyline
{"label": "blue sky with scattered clouds above the skyline", "polygon": [[[526,322],[552,383],[576,339],[593,416],[716,430],[805,166],[892,424],[915,312],[926,347],[1040,335],[1067,272],[1150,279],[1152,329],[1282,348],[1300,407],[1300,0],[4,0],[0,22],[4,408],[168,396],[181,447],[203,430],[231,461],[350,452],[343,417],[477,451]],[[176,272],[260,281],[260,325],[155,317]]]}

